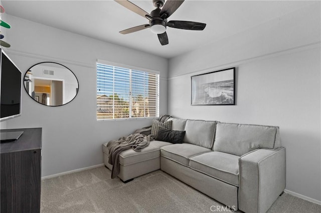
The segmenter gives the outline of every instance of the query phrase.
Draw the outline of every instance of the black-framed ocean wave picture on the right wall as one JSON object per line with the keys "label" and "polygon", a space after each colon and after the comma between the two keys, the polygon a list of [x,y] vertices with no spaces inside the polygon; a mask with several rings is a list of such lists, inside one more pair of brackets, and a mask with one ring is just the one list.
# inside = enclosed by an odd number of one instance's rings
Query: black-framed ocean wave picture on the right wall
{"label": "black-framed ocean wave picture on the right wall", "polygon": [[191,76],[192,105],[235,105],[235,67]]}

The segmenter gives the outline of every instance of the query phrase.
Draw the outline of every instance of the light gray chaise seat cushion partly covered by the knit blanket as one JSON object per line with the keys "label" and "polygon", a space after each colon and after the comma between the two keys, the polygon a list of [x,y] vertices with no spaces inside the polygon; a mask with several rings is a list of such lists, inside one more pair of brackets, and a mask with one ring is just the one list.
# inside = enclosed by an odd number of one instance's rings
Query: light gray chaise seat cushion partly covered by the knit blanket
{"label": "light gray chaise seat cushion partly covered by the knit blanket", "polygon": [[[159,148],[164,145],[172,144],[170,142],[152,140],[149,142],[149,145],[145,148],[140,149],[141,151],[134,151],[132,148],[126,149],[119,154],[119,163],[121,165],[130,165],[133,163],[146,161],[159,157],[161,152]],[[103,144],[103,151],[109,155],[108,148],[106,147],[107,143]]]}

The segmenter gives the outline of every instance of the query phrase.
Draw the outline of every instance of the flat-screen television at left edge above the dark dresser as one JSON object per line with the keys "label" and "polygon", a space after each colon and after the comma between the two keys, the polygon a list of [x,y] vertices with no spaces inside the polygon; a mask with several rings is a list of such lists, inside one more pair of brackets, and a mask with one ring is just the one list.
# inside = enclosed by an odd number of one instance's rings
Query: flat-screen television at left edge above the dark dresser
{"label": "flat-screen television at left edge above the dark dresser", "polygon": [[21,115],[22,73],[1,49],[0,120]]}

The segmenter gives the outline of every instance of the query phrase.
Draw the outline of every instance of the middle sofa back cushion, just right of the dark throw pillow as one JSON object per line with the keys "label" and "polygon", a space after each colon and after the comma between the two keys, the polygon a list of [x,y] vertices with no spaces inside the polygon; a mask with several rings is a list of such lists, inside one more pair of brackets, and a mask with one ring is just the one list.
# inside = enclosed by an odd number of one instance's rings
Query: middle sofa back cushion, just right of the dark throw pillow
{"label": "middle sofa back cushion, just right of the dark throw pillow", "polygon": [[185,124],[184,142],[212,148],[216,121],[190,120]]}

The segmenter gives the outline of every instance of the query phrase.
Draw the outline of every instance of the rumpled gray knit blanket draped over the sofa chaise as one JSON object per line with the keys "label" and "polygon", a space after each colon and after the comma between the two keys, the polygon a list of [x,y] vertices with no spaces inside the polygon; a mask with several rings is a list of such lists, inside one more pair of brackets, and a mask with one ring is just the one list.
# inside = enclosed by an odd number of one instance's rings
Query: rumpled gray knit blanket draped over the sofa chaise
{"label": "rumpled gray knit blanket draped over the sofa chaise", "polygon": [[128,136],[122,136],[118,140],[110,140],[107,143],[107,148],[109,150],[108,163],[112,165],[111,178],[115,178],[119,174],[119,154],[123,150],[132,148],[135,151],[140,151],[140,149],[148,146],[149,141],[153,139],[151,135],[134,133]]}

